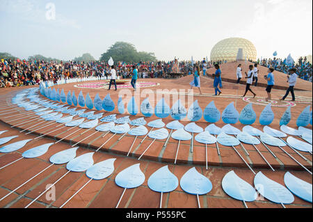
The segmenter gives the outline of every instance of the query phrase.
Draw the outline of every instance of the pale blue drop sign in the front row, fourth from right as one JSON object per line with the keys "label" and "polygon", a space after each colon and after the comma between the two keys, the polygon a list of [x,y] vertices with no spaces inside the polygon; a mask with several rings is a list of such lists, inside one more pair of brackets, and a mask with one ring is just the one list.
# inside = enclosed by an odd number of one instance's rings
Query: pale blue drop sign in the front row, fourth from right
{"label": "pale blue drop sign in the front row, fourth from right", "polygon": [[180,179],[180,187],[182,187],[186,193],[203,195],[209,193],[213,186],[207,177],[198,173],[195,167],[193,167]]}

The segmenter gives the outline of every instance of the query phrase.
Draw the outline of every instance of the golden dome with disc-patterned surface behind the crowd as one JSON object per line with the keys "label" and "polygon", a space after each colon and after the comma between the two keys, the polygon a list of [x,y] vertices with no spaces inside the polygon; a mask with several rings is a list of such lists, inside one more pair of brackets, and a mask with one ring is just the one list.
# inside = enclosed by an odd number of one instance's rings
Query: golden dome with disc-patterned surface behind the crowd
{"label": "golden dome with disc-patterned surface behind the crowd", "polygon": [[214,45],[211,50],[211,61],[236,61],[239,49],[243,49],[243,59],[257,60],[257,50],[252,42],[244,38],[226,38]]}

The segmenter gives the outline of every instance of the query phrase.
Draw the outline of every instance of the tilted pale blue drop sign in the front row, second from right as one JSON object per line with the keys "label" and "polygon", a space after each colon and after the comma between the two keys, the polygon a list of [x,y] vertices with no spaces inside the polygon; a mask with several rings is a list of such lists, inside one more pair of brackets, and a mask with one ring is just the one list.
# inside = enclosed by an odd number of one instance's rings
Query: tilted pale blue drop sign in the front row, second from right
{"label": "tilted pale blue drop sign in the front row, second from right", "polygon": [[273,203],[291,204],[294,202],[294,196],[286,187],[269,179],[262,172],[255,175],[254,183],[257,191]]}

